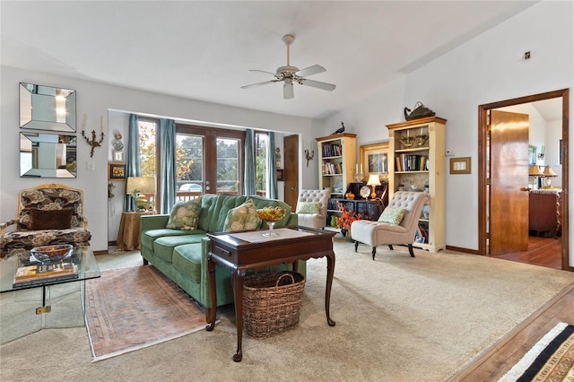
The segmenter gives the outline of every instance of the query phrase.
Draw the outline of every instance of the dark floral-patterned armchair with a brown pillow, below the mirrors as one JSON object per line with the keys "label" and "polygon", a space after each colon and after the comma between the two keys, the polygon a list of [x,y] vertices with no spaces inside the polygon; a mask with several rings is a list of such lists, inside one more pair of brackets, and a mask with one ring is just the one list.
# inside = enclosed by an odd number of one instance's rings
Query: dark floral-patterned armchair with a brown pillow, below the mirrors
{"label": "dark floral-patterned armchair with a brown pillow, below the mirrors", "polygon": [[83,191],[60,184],[40,185],[22,189],[16,218],[0,223],[0,256],[52,244],[87,246],[90,239]]}

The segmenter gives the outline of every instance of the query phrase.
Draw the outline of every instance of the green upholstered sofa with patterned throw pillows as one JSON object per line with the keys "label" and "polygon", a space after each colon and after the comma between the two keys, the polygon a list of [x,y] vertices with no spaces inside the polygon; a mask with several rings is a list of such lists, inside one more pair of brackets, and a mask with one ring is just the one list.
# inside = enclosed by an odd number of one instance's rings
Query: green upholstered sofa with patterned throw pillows
{"label": "green upholstered sofa with patterned throw pillows", "polygon": [[[166,228],[170,218],[168,214],[143,215],[140,218],[143,264],[152,263],[204,308],[211,308],[207,279],[209,239],[206,234],[221,232],[230,209],[245,203],[248,199],[252,199],[257,208],[280,206],[285,209],[283,219],[275,223],[276,228],[297,225],[297,213],[291,213],[291,206],[282,201],[257,195],[202,195],[196,230]],[[266,227],[263,222],[262,228]],[[300,262],[298,266],[298,272],[305,274],[305,262]],[[286,265],[280,265],[277,269],[286,269]],[[216,265],[215,282],[217,306],[233,302],[230,270]]]}

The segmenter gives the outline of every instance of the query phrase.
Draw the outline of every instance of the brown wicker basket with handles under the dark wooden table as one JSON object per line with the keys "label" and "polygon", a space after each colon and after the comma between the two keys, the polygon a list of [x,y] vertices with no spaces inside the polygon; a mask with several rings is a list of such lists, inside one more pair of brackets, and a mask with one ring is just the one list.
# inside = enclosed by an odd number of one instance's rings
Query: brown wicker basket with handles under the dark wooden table
{"label": "brown wicker basket with handles under the dark wooden table", "polygon": [[243,289],[243,323],[251,337],[268,337],[299,323],[305,277],[269,272],[247,276]]}

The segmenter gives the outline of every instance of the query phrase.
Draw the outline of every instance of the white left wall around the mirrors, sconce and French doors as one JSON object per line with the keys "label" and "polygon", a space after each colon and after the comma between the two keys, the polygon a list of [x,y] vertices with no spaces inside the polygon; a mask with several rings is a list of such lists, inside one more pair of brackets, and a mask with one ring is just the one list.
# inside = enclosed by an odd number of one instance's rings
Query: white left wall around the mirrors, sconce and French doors
{"label": "white left wall around the mirrors, sconce and French doors", "polygon": [[[121,215],[121,207],[112,208],[108,200],[108,161],[111,153],[110,139],[113,139],[114,129],[127,131],[125,117],[109,110],[121,110],[153,116],[170,117],[179,120],[192,121],[197,124],[209,123],[211,126],[240,126],[263,130],[274,130],[290,134],[298,134],[301,139],[309,141],[316,136],[313,129],[321,124],[309,118],[290,117],[273,113],[257,112],[248,109],[232,108],[197,100],[186,100],[145,91],[110,86],[98,82],[89,82],[24,71],[21,69],[1,66],[0,78],[0,161],[6,166],[0,171],[0,221],[13,219],[16,213],[16,199],[22,188],[35,187],[44,183],[61,183],[69,187],[83,189],[85,204],[84,212],[89,221],[92,233],[91,247],[95,251],[108,249],[109,230],[116,237],[117,219]],[[77,178],[20,178],[19,176],[19,82],[30,82],[41,85],[63,87],[77,91],[78,123],[78,173]],[[86,135],[91,136],[91,130],[100,132],[100,116],[104,117],[106,137],[102,147],[95,149],[90,158],[90,146],[81,135],[83,115],[87,115]],[[126,134],[124,135],[127,136]],[[301,149],[302,150],[302,149]],[[95,170],[86,169],[87,161],[93,161]],[[309,169],[311,169],[309,167]],[[119,184],[120,182],[113,182]],[[317,187],[317,170],[303,169],[300,171],[300,187]],[[122,185],[122,187],[125,187]],[[121,192],[116,188],[117,199]],[[123,192],[123,191],[122,191]],[[109,217],[112,222],[108,224]],[[108,228],[109,227],[109,228]]]}

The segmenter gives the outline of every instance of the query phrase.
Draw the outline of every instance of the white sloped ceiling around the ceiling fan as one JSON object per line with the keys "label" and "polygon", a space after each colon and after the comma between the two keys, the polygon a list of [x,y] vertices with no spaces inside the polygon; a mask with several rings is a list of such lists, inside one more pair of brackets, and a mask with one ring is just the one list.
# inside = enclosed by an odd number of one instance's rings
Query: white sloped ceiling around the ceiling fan
{"label": "white sloped ceiling around the ceiling fan", "polygon": [[[1,64],[300,117],[364,100],[535,1],[22,1],[0,3]],[[286,65],[323,65],[283,100]],[[40,83],[57,86],[58,84]]]}

